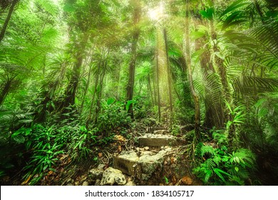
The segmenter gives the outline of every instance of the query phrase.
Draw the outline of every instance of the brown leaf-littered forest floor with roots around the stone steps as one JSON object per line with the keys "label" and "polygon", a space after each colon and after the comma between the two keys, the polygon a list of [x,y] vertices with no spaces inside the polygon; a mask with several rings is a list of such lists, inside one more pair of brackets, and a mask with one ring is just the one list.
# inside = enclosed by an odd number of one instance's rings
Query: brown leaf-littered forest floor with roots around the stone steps
{"label": "brown leaf-littered forest floor with roots around the stone steps", "polygon": [[[167,125],[165,126],[167,127]],[[180,146],[140,146],[138,136],[148,133],[148,127],[138,123],[133,129],[128,129],[128,139],[120,134],[114,136],[112,143],[105,146],[95,146],[93,156],[82,161],[71,161],[68,154],[58,156],[58,164],[55,171],[48,171],[41,181],[36,185],[56,185],[56,186],[78,186],[78,185],[100,185],[101,177],[93,177],[93,169],[108,169],[113,167],[113,160],[116,156],[125,151],[136,151],[140,154],[147,152],[158,152],[163,149],[170,149],[167,155],[163,156],[160,169],[149,174],[148,180],[138,180],[134,176],[124,174],[126,185],[202,185],[202,181],[192,174],[190,156],[187,153],[187,144]],[[143,153],[144,152],[144,153]],[[2,180],[4,185],[28,185],[29,179],[22,181],[22,170],[14,176],[6,176]],[[117,185],[117,184],[114,184]]]}

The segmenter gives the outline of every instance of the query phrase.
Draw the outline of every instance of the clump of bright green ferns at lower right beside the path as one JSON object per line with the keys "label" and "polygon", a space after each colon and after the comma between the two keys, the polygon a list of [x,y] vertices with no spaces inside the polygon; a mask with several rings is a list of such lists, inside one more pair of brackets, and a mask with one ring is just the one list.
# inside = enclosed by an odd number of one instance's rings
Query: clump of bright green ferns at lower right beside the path
{"label": "clump of bright green ferns at lower right beside the path", "polygon": [[[237,149],[229,152],[227,136],[213,133],[217,146],[199,144],[195,154],[202,162],[193,169],[194,173],[211,185],[244,185],[250,184],[250,172],[255,169],[255,155],[249,149]],[[226,139],[226,142],[224,140]]]}

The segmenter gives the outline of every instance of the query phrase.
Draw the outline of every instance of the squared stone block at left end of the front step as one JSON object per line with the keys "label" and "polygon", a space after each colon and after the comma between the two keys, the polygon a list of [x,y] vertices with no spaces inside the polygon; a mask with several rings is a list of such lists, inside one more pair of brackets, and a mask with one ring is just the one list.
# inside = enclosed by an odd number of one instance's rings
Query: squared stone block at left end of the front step
{"label": "squared stone block at left end of the front step", "polygon": [[123,171],[123,174],[128,174],[129,176],[135,175],[135,169],[138,164],[139,157],[135,151],[126,151],[115,156],[113,159],[113,167]]}

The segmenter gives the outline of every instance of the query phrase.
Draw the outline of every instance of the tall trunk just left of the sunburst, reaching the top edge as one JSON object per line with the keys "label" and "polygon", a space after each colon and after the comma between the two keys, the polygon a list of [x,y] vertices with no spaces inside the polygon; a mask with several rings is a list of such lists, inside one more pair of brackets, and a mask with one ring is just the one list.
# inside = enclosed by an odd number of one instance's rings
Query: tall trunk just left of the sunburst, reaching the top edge
{"label": "tall trunk just left of the sunburst, reaching the top edge", "polygon": [[[133,89],[134,89],[134,79],[135,79],[135,62],[136,62],[136,49],[137,43],[140,35],[140,30],[138,28],[138,22],[140,21],[140,1],[131,0],[131,4],[134,6],[134,13],[133,13],[133,39],[131,44],[131,60],[129,64],[129,76],[128,76],[128,86],[126,88],[126,100],[130,101],[133,99]],[[130,114],[131,118],[134,118],[133,115],[133,104],[130,104],[128,108],[128,113]]]}

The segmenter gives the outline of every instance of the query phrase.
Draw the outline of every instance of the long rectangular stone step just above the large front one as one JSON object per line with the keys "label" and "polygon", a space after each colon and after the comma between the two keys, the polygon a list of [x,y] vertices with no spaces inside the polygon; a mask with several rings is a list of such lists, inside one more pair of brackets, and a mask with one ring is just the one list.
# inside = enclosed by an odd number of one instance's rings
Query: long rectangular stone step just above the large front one
{"label": "long rectangular stone step just above the large front one", "polygon": [[167,134],[145,134],[138,137],[138,142],[140,146],[179,146],[185,144],[185,141]]}

